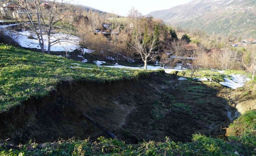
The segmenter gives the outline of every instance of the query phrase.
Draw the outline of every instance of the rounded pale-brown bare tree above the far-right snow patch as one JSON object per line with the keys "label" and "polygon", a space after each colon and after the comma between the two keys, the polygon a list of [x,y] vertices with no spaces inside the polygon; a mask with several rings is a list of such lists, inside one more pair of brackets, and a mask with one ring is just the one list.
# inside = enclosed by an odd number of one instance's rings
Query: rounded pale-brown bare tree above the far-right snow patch
{"label": "rounded pale-brown bare tree above the far-right snow patch", "polygon": [[225,48],[219,53],[218,62],[222,70],[232,69],[238,62],[238,53],[229,48]]}

